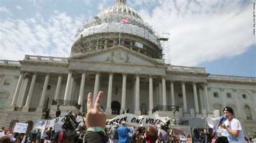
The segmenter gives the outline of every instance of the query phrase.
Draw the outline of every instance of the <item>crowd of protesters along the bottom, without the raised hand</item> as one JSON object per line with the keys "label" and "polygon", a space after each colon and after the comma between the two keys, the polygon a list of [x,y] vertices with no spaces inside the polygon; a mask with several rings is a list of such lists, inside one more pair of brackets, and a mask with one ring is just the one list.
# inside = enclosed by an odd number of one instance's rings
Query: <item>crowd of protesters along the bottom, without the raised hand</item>
{"label": "crowd of protesters along the bottom, without the raised hand", "polygon": [[[75,114],[74,114],[75,115]],[[75,117],[73,117],[75,121]],[[71,125],[72,126],[72,125]],[[44,130],[33,130],[26,133],[14,133],[11,129],[5,130],[2,127],[0,132],[4,133],[0,142],[77,142],[82,143],[86,134],[85,126],[74,128],[63,128],[63,131],[55,132],[52,127],[45,127]],[[73,131],[73,132],[72,132]],[[129,132],[129,134],[127,134]],[[70,134],[71,133],[71,134]],[[126,127],[125,121],[122,124],[114,123],[114,126],[105,128],[106,142],[211,142],[211,135],[207,130],[193,131],[190,134],[177,134],[168,127]],[[246,137],[245,137],[246,138]],[[246,138],[247,142],[254,142],[255,138],[250,135]]]}

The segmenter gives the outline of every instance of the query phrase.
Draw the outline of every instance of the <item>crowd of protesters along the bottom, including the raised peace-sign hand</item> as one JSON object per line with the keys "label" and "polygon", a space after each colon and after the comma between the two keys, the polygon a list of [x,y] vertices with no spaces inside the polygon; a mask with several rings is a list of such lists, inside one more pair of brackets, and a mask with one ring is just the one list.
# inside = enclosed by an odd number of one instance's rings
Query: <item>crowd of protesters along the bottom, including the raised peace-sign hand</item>
{"label": "crowd of protesters along the bottom, including the raised peace-sign hand", "polygon": [[[52,127],[45,126],[43,130],[27,131],[26,133],[15,133],[12,129],[0,131],[0,143],[3,142],[58,142],[58,143],[82,143],[82,142],[212,142],[211,135],[207,129],[194,129],[192,136],[184,133],[177,134],[169,128],[169,124],[164,123],[160,126],[152,125],[150,127],[131,127],[127,126],[125,121],[121,124],[114,123],[114,126],[105,128],[106,115],[100,108],[100,100],[103,92],[100,91],[95,107],[92,105],[92,93],[89,93],[87,99],[86,124],[83,114],[69,113],[64,116],[62,131],[56,131]],[[56,116],[57,117],[57,116]],[[105,130],[104,130],[105,128]],[[247,139],[245,137],[245,139]],[[251,135],[247,142],[254,142]]]}

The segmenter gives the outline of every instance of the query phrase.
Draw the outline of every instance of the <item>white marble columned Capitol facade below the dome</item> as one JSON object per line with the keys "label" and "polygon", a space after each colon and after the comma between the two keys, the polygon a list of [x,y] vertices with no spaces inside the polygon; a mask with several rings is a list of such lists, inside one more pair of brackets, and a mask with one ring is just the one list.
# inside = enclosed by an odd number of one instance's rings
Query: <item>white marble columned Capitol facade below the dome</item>
{"label": "white marble columned Capitol facade below the dome", "polygon": [[87,93],[95,92],[95,97],[102,90],[108,115],[122,114],[126,108],[136,115],[151,115],[157,105],[175,105],[180,109],[177,118],[186,121],[212,116],[216,109],[221,113],[228,105],[245,133],[255,134],[255,77],[211,75],[205,68],[167,65],[133,49],[132,42],[130,47],[124,40],[117,45],[114,39],[111,47],[107,42],[101,49],[71,53],[69,58],[25,55],[21,61],[0,60],[0,126],[15,120],[35,123],[45,108],[53,108],[53,99],[79,103],[86,112]]}

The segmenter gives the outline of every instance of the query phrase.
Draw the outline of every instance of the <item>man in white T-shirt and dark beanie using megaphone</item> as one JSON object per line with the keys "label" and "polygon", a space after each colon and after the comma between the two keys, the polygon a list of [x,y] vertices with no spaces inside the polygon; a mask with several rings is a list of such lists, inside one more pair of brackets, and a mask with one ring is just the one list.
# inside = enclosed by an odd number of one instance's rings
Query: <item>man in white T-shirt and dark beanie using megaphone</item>
{"label": "man in white T-shirt and dark beanie using megaphone", "polygon": [[238,119],[233,118],[233,109],[226,106],[223,109],[224,116],[227,118],[221,123],[221,127],[225,128],[225,135],[231,143],[244,143],[244,132],[242,131],[242,124]]}

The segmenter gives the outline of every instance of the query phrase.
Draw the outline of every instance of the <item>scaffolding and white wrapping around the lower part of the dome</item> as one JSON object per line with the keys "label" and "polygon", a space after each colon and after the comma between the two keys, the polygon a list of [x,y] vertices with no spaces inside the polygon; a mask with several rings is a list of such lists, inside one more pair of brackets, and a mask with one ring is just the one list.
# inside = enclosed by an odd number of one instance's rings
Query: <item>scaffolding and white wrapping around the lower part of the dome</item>
{"label": "scaffolding and white wrapping around the lower part of the dome", "polygon": [[[104,49],[119,44],[150,56],[161,59],[163,48],[160,40],[154,33],[146,28],[132,24],[102,23],[101,25],[85,28],[77,35],[71,49],[71,56],[75,53],[87,53],[98,49]],[[142,46],[141,46],[142,45]]]}

